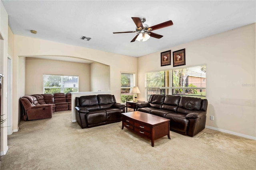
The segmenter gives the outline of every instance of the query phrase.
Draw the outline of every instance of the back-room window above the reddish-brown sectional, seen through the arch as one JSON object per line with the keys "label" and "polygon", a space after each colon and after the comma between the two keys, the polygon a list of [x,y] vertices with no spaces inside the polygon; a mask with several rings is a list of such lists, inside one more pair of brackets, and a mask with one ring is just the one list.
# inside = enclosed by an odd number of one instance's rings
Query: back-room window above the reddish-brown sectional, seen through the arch
{"label": "back-room window above the reddish-brown sectional, seen through the arch", "polygon": [[78,92],[78,76],[44,75],[44,94]]}

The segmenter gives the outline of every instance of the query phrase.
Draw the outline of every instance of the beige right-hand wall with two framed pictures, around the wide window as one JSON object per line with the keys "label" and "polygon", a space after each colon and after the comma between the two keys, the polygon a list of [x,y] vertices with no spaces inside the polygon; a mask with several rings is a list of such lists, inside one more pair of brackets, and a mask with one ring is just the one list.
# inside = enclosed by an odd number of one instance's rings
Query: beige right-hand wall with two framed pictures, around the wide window
{"label": "beige right-hand wall with two framed pictures, around the wide window", "polygon": [[[160,53],[184,48],[186,67],[206,64],[206,125],[255,138],[255,24],[139,57],[139,100],[144,100],[147,71],[173,68],[160,66]],[[210,121],[210,115],[214,121]]]}

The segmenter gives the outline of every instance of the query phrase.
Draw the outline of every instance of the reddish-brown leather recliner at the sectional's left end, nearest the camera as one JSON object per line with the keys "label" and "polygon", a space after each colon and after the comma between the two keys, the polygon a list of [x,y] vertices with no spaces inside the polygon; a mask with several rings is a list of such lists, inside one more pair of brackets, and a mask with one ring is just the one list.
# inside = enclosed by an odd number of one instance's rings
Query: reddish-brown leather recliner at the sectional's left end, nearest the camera
{"label": "reddish-brown leather recliner at the sectional's left end, nearest the camera", "polygon": [[52,117],[52,105],[40,104],[36,97],[26,95],[20,99],[24,109],[24,121],[47,119]]}

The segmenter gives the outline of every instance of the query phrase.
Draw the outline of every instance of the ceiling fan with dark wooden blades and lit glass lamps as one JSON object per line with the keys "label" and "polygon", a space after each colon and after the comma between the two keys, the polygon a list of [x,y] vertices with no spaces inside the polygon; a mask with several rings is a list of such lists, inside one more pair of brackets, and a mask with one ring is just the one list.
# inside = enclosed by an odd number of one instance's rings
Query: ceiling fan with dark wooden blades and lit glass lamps
{"label": "ceiling fan with dark wooden blades and lit glass lamps", "polygon": [[144,42],[144,41],[148,40],[150,37],[154,37],[154,38],[158,38],[158,39],[163,37],[159,34],[155,34],[155,33],[151,32],[151,31],[173,25],[172,20],[170,20],[170,21],[166,21],[161,24],[157,24],[155,26],[149,27],[147,24],[144,24],[144,22],[146,21],[146,18],[144,18],[144,17],[140,17],[140,18],[132,17],[132,20],[136,25],[136,31],[113,32],[113,34],[134,33],[135,32],[137,35],[134,37],[134,39],[132,39],[131,42],[134,42],[135,40]]}

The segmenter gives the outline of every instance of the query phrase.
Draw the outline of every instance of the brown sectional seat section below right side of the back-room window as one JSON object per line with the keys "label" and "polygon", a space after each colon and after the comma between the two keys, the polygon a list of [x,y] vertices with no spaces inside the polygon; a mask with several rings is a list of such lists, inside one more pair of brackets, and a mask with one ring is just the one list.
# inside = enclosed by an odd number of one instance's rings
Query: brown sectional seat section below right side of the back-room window
{"label": "brown sectional seat section below right side of the back-room window", "polygon": [[68,111],[68,102],[66,102],[65,93],[54,93],[55,111]]}

